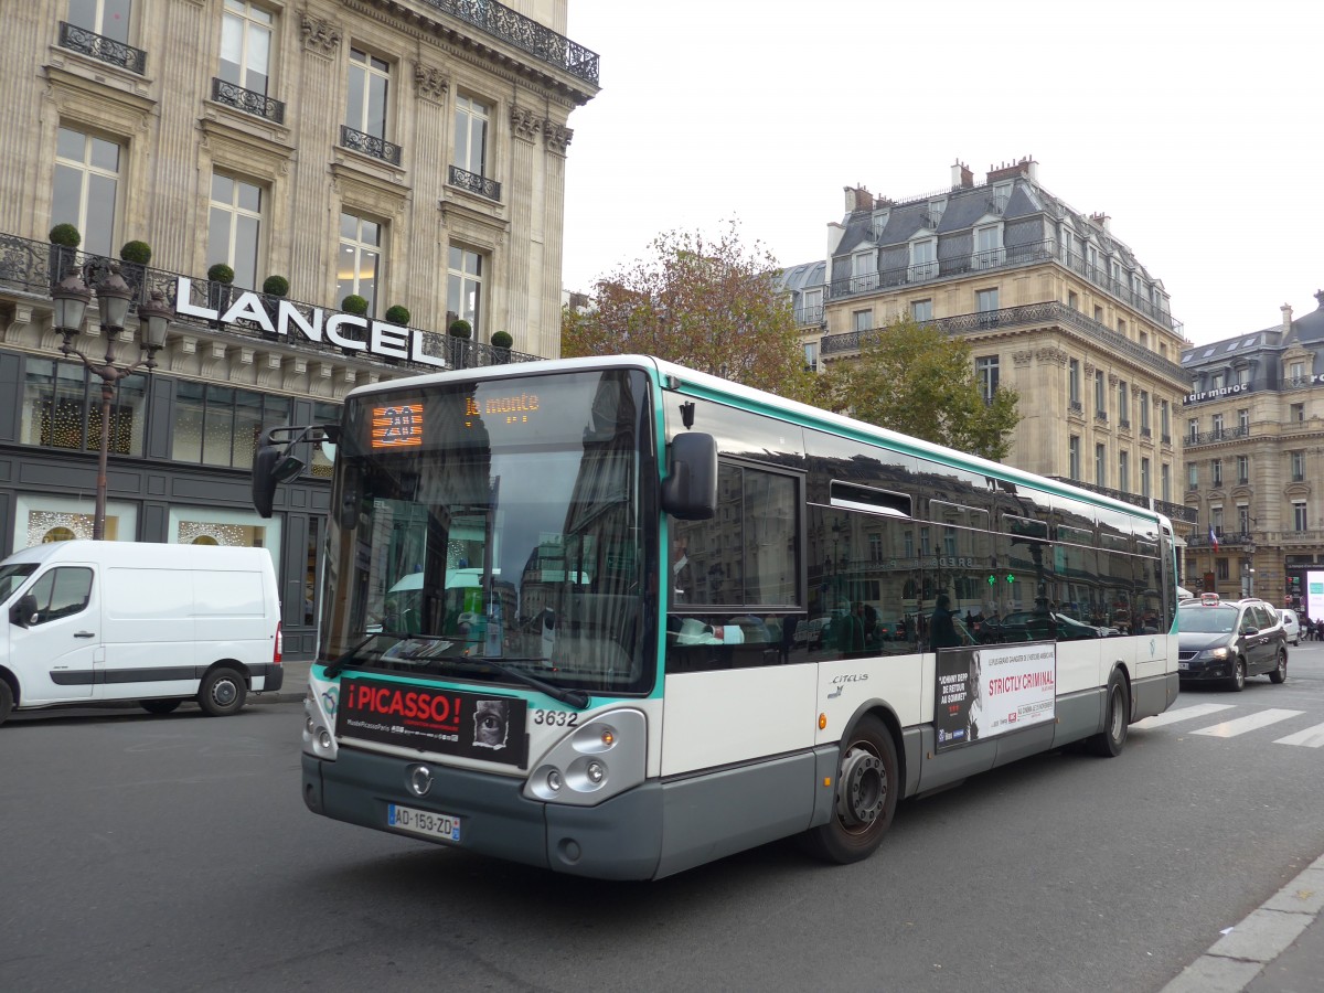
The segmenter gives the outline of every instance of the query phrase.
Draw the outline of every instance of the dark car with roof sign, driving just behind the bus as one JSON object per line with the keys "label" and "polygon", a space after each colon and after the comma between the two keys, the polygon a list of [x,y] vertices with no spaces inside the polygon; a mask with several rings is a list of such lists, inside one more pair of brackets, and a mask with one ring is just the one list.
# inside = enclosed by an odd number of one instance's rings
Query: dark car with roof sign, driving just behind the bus
{"label": "dark car with roof sign, driving just behind the bus", "polygon": [[1247,675],[1287,679],[1287,633],[1263,600],[1206,594],[1177,606],[1177,669],[1184,683],[1221,683],[1241,690]]}

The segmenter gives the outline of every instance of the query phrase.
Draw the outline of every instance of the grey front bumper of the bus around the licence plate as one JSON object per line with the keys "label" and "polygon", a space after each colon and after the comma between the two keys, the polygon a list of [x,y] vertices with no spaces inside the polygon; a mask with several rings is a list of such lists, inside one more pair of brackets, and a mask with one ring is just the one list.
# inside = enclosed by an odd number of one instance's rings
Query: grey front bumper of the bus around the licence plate
{"label": "grey front bumper of the bus around the licence plate", "polygon": [[[303,755],[303,802],[336,821],[445,847],[597,879],[651,879],[662,854],[662,789],[647,782],[592,808],[544,804],[522,794],[523,779],[425,763],[426,796],[409,790],[420,760],[340,747],[335,761]],[[458,817],[449,843],[387,824],[388,805]]]}

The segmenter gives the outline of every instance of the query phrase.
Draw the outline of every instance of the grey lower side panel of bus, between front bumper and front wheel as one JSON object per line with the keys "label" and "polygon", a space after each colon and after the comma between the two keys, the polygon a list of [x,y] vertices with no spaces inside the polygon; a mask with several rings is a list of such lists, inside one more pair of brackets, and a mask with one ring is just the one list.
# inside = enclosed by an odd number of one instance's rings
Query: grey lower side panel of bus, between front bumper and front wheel
{"label": "grey lower side panel of bus, between front bumper and front wheel", "polygon": [[663,784],[658,876],[809,829],[813,752]]}

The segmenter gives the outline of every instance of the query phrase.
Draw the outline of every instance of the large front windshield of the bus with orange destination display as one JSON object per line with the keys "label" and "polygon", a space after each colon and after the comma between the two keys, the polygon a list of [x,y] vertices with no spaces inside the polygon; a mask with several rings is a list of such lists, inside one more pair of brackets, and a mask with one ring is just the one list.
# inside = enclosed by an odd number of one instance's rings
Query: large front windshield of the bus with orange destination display
{"label": "large front windshield of the bus with orange destination display", "polygon": [[322,658],[646,692],[655,633],[645,632],[642,567],[657,561],[639,506],[641,478],[657,478],[649,409],[646,379],[629,369],[351,400]]}

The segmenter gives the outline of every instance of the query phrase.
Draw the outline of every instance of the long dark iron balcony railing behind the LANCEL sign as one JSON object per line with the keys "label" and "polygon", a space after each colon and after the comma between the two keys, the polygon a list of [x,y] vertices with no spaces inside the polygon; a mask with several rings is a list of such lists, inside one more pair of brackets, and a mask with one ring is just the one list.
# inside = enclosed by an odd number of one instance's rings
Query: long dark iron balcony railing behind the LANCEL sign
{"label": "long dark iron balcony railing behind the LANCEL sign", "polygon": [[[28,238],[20,238],[15,234],[0,233],[0,287],[13,293],[26,294],[29,298],[40,297],[49,299],[50,287],[70,269],[81,271],[83,279],[91,285],[105,275],[105,273],[110,269],[111,262],[113,260],[106,258],[105,256],[93,256],[85,252],[50,245],[44,241],[30,241]],[[179,289],[179,277],[185,274],[172,273],[166,269],[130,265],[127,262],[120,262],[119,265],[120,275],[123,275],[124,281],[134,291],[134,298],[130,302],[131,312],[138,310],[139,303],[150,301],[154,290],[160,290],[169,302],[171,307],[176,305],[175,294]],[[191,302],[199,307],[208,307],[212,310],[224,310],[224,307],[217,307],[217,303],[234,299],[244,291],[237,286],[213,283],[207,279],[192,279],[189,286]],[[305,323],[310,327],[316,323],[316,319],[314,318],[315,311],[320,310],[324,314],[326,311],[332,310],[315,303],[303,303],[299,301],[287,302],[294,306],[294,308],[303,318]],[[249,322],[220,324],[217,322],[208,322],[203,318],[184,316],[179,314],[172,316],[171,322],[175,324],[193,326],[199,330],[205,328],[213,334],[240,339],[248,343],[271,340],[265,336],[265,332],[260,326]],[[469,342],[451,338],[442,331],[429,332],[426,328],[422,330],[426,332],[428,354],[444,357],[451,365],[459,364],[465,368],[474,368],[479,365],[507,365],[511,363],[536,361],[540,359],[538,355],[516,352],[512,348],[494,348],[483,342]],[[298,352],[327,354],[342,357],[344,355],[339,346],[330,342],[301,339],[297,344],[291,343],[291,348]],[[379,356],[369,355],[359,350],[354,351],[354,356],[364,361],[383,363],[385,365],[396,365],[420,372],[437,371],[434,365],[428,363],[417,363],[408,359],[388,363]]]}

